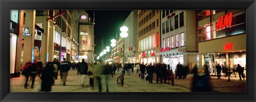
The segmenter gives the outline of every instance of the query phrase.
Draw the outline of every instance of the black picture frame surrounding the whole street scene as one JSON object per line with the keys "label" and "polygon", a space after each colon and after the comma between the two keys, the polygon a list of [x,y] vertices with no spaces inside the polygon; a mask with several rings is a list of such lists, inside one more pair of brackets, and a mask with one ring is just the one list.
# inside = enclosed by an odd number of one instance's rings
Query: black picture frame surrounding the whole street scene
{"label": "black picture frame surrounding the whole street scene", "polygon": [[[1,101],[255,101],[255,0],[1,0]],[[246,10],[246,92],[10,92],[10,10]]]}

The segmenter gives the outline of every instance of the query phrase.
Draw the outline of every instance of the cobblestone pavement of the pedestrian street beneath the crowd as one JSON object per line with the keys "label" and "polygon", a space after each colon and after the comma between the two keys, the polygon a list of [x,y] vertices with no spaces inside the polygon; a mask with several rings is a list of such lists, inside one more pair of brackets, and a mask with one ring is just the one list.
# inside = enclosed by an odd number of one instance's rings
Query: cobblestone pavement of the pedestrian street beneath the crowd
{"label": "cobblestone pavement of the pedestrian street beneath the crowd", "polygon": [[[89,77],[86,77],[85,86],[81,86],[81,78],[76,74],[77,70],[70,70],[67,77],[67,86],[62,86],[62,79],[58,75],[52,86],[51,92],[98,92],[98,83],[94,78],[94,88],[89,85]],[[126,73],[125,73],[126,74]],[[174,79],[174,86],[167,84],[148,84],[148,81],[139,78],[137,73],[132,73],[131,76],[124,76],[124,86],[118,85],[116,82],[120,72],[116,71],[113,78],[109,78],[109,92],[190,92],[191,79],[193,75],[188,75],[187,79]],[[23,87],[25,84],[25,77],[10,79],[10,92],[37,92],[40,87],[41,79],[36,77],[34,88],[30,88],[31,81],[27,89]],[[246,80],[239,80],[239,77],[230,77],[231,81],[227,81],[227,77],[211,77],[211,84],[214,91],[217,92],[246,92]],[[106,82],[102,81],[102,91],[106,92]]]}

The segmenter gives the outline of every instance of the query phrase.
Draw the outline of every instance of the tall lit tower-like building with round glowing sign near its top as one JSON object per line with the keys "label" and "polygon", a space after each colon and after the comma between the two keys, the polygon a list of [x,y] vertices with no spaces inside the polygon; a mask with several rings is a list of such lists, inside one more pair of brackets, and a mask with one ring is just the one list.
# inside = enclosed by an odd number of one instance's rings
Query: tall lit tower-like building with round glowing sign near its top
{"label": "tall lit tower-like building with round glowing sign near its top", "polygon": [[94,61],[94,22],[89,14],[83,10],[78,10],[79,29],[78,29],[78,60]]}

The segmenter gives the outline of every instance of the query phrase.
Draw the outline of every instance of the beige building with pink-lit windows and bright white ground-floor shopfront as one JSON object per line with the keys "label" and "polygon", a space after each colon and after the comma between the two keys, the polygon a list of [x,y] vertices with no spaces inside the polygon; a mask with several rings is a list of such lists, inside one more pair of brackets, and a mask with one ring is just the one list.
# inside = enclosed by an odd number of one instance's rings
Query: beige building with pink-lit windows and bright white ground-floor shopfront
{"label": "beige building with pink-lit windows and bright white ground-floor shopfront", "polygon": [[195,15],[192,10],[161,11],[161,48],[156,54],[173,70],[179,62],[189,68],[199,62]]}

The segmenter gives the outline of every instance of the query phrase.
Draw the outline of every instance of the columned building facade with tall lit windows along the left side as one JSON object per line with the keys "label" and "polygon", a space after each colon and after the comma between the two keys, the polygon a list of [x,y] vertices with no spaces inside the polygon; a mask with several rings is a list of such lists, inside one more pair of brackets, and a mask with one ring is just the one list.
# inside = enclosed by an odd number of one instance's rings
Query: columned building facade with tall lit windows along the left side
{"label": "columned building facade with tall lit windows along the left side", "polygon": [[[43,64],[53,61],[54,58],[59,61],[66,58],[67,61],[71,61],[71,46],[75,44],[71,41],[78,39],[75,36],[78,29],[74,27],[73,30],[73,26],[78,26],[78,22],[72,21],[72,17],[75,17],[72,15],[77,11],[20,10],[18,12],[19,28],[21,29],[19,29],[18,36],[15,38],[17,39],[16,61],[15,67],[13,67],[13,63],[11,65],[11,75],[13,69],[14,73],[19,73],[26,62],[34,62],[37,58],[40,58]],[[17,13],[11,15],[15,14]],[[11,20],[11,22],[15,22],[15,20]],[[71,40],[70,36],[73,31],[74,37]],[[76,45],[78,49],[78,42]],[[11,44],[11,49],[13,47],[15,47],[15,44]]]}

